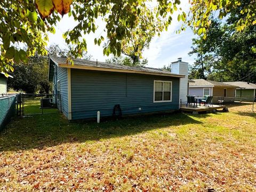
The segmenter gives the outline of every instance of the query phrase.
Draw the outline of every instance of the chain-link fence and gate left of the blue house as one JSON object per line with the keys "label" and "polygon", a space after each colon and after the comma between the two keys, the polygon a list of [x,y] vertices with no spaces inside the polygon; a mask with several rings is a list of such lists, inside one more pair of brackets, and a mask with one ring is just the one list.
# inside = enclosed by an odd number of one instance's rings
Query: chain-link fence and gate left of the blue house
{"label": "chain-link fence and gate left of the blue house", "polygon": [[61,100],[55,94],[21,94],[22,115],[58,113]]}

